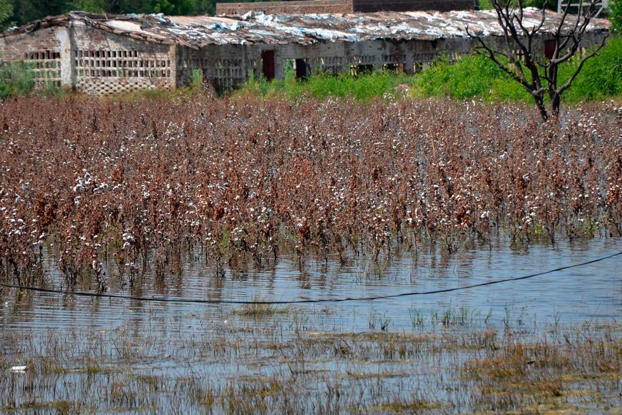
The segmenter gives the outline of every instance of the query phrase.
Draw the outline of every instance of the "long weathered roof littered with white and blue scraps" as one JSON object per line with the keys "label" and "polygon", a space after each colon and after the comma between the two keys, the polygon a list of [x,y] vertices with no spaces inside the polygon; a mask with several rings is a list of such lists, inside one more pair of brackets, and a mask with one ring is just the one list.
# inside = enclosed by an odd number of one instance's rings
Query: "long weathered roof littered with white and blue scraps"
{"label": "long weathered roof littered with white and blue scraps", "polygon": [[[539,24],[542,12],[524,10],[524,26]],[[543,32],[554,30],[561,14],[547,11]],[[570,27],[573,17],[567,17]],[[106,16],[71,12],[47,17],[3,35],[32,32],[42,27],[86,24],[108,32],[162,44],[312,44],[362,40],[432,40],[466,37],[466,26],[478,34],[501,35],[494,11],[378,12],[366,14],[276,15],[249,12],[244,16],[170,16],[141,14]],[[592,19],[588,31],[609,30],[610,22]]]}

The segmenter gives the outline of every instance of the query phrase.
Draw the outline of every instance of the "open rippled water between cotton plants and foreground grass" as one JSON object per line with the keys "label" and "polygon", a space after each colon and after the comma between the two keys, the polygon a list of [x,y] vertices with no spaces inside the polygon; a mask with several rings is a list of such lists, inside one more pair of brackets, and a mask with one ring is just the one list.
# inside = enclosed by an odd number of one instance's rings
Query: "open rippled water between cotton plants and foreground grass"
{"label": "open rippled water between cotton plants and foreground grass", "polygon": [[[202,261],[185,261],[182,272],[157,281],[146,275],[141,286],[130,291],[127,277],[111,277],[109,292],[164,297],[166,299],[212,299],[224,301],[298,301],[302,299],[341,299],[424,292],[468,286],[541,273],[622,251],[620,238],[563,242],[556,245],[531,245],[529,248],[490,249],[472,246],[455,254],[425,251],[399,253],[379,264],[369,258],[350,256],[347,264],[307,258],[302,269],[292,254],[280,256],[276,266],[261,269],[253,261],[243,271],[229,271],[216,278]],[[110,273],[110,271],[109,271]],[[53,281],[47,287],[64,289],[62,275],[49,272]],[[122,285],[124,287],[122,287]],[[328,309],[326,317],[312,322],[319,329],[334,327],[351,331],[369,329],[366,317],[376,314],[391,319],[391,330],[411,329],[409,310],[429,317],[448,308],[468,309],[470,314],[492,314],[489,323],[501,325],[509,310],[519,310],[536,323],[580,323],[603,317],[622,317],[622,255],[598,263],[565,269],[521,281],[442,294],[404,296],[376,301],[297,304],[301,309]],[[205,324],[206,314],[227,316],[240,305],[141,302],[120,299],[93,299],[62,294],[34,293],[16,302],[4,290],[0,304],[2,330],[38,330],[101,328],[132,325],[137,330],[152,324],[154,317],[178,322],[180,333],[197,330]],[[243,318],[228,318],[236,324]],[[210,322],[211,323],[211,322]],[[218,322],[214,322],[217,324]]]}

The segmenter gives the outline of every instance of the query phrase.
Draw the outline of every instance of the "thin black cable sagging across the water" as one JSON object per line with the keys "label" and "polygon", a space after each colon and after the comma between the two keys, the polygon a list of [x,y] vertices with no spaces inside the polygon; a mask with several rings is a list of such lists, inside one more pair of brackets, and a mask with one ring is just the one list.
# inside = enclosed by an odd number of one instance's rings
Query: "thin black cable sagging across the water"
{"label": "thin black cable sagging across the water", "polygon": [[310,304],[310,303],[318,303],[318,302],[346,302],[346,301],[374,301],[374,300],[384,300],[398,297],[410,297],[410,296],[425,296],[429,294],[441,294],[443,292],[452,292],[452,291],[460,291],[470,288],[477,288],[483,286],[491,286],[493,284],[500,284],[501,282],[508,281],[519,281],[521,279],[528,279],[537,276],[542,276],[551,273],[557,273],[559,271],[564,271],[564,269],[577,268],[580,266],[586,266],[589,264],[598,263],[600,261],[605,261],[605,259],[613,258],[614,256],[622,255],[622,251],[610,254],[607,256],[603,256],[598,259],[592,259],[591,261],[585,261],[579,264],[572,264],[567,266],[562,266],[560,268],[549,269],[548,271],[542,271],[541,273],[529,274],[521,277],[513,277],[506,279],[498,279],[495,281],[487,281],[480,282],[478,284],[471,284],[468,286],[460,286],[460,287],[452,287],[452,288],[443,288],[436,289],[432,291],[410,291],[410,292],[401,292],[399,294],[388,294],[384,296],[371,296],[371,297],[343,297],[336,299],[300,299],[300,300],[282,300],[282,301],[243,301],[243,300],[220,300],[220,299],[193,299],[193,298],[165,298],[165,297],[140,297],[140,296],[124,296],[123,294],[106,294],[105,292],[87,292],[87,291],[68,291],[68,290],[56,290],[51,288],[42,288],[42,287],[27,287],[20,286],[16,284],[4,284],[0,282],[0,287],[6,288],[16,288],[23,289],[28,291],[37,291],[37,292],[51,292],[53,294],[67,294],[72,296],[81,296],[81,297],[103,297],[103,298],[111,298],[111,299],[121,299],[121,300],[136,300],[136,301],[151,301],[151,302],[177,302],[177,303],[193,303],[193,304],[236,304],[236,305],[253,305],[253,304]]}

